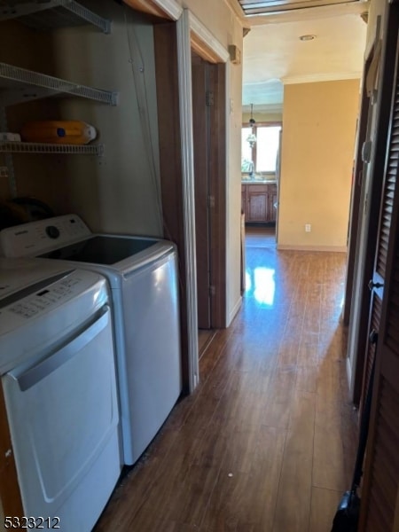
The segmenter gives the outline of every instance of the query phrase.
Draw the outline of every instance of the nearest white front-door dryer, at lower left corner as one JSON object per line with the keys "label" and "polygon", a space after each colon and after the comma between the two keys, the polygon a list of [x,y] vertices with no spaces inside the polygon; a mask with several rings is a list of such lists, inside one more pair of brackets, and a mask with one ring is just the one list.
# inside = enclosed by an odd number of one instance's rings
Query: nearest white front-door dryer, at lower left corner
{"label": "nearest white front-door dryer, at lower left corner", "polygon": [[105,278],[62,263],[0,259],[7,452],[24,514],[35,519],[27,524],[90,532],[98,520],[122,465],[115,373]]}

